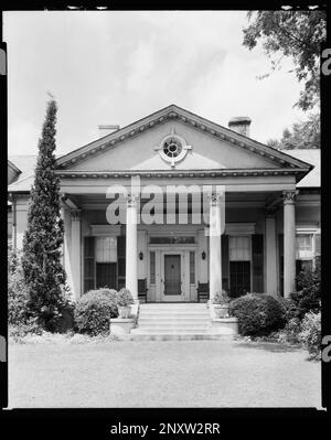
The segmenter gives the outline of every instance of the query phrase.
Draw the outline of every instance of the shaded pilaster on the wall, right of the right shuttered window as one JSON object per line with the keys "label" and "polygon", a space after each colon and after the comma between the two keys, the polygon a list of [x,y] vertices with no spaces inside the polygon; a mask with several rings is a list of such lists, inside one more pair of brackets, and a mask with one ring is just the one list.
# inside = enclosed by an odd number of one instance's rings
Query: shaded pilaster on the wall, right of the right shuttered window
{"label": "shaded pilaster on the wall, right of the right shuttered window", "polygon": [[266,208],[266,292],[277,294],[276,208]]}

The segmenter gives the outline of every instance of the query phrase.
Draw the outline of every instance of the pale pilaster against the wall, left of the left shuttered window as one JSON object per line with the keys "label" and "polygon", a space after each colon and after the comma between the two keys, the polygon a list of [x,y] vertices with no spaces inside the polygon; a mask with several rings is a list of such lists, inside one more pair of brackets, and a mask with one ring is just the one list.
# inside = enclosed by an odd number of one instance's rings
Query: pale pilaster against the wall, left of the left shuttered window
{"label": "pale pilaster against the wall, left of the left shuttered window", "polygon": [[74,298],[78,300],[82,293],[82,237],[81,237],[81,210],[72,210],[72,239],[71,239],[71,269]]}

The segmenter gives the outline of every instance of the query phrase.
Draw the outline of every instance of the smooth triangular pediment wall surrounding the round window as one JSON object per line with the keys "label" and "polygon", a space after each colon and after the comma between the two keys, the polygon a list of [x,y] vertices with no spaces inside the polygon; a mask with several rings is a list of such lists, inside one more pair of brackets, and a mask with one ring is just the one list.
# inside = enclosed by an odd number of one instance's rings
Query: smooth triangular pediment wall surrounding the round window
{"label": "smooth triangular pediment wall surrounding the round window", "polygon": [[132,140],[120,142],[102,153],[88,155],[87,160],[71,165],[72,170],[110,171],[110,170],[169,170],[169,162],[164,162],[154,147],[171,129],[192,146],[185,160],[175,168],[180,170],[222,169],[222,168],[275,168],[271,161],[256,157],[229,142],[190,128],[179,121],[167,122],[154,127]]}

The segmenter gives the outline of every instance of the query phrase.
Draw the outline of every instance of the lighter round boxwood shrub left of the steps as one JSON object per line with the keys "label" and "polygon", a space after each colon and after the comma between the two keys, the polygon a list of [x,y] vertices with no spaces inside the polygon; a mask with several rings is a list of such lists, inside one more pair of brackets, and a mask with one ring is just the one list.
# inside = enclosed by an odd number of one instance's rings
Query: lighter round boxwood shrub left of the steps
{"label": "lighter round boxwood shrub left of the steps", "polygon": [[98,289],[85,293],[76,303],[74,319],[81,333],[97,335],[109,331],[110,318],[118,316],[116,290]]}

